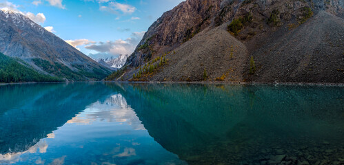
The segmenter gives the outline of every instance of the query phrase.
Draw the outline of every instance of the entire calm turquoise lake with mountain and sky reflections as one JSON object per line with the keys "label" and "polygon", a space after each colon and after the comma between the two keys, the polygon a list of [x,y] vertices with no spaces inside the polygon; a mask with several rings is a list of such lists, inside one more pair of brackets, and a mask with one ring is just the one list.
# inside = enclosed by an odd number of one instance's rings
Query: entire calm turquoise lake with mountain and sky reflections
{"label": "entire calm turquoise lake with mountain and sky reflections", "polygon": [[344,164],[344,88],[0,86],[0,164]]}

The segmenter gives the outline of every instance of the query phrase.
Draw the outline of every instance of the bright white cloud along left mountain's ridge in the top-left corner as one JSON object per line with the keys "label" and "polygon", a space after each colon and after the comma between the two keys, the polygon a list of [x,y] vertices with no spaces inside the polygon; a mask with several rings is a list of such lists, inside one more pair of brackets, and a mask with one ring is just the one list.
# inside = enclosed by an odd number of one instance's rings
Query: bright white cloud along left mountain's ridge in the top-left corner
{"label": "bright white cloud along left mountain's ridge in the top-left corner", "polygon": [[34,21],[35,23],[44,23],[45,22],[45,16],[43,13],[38,13],[38,14],[33,14],[32,12],[21,12],[20,10],[18,10],[19,5],[15,5],[13,3],[10,3],[8,1],[5,2],[0,2],[0,10],[3,11],[12,11],[12,12],[17,12],[20,14],[25,15],[26,17],[28,17],[29,19],[31,19],[32,21]]}

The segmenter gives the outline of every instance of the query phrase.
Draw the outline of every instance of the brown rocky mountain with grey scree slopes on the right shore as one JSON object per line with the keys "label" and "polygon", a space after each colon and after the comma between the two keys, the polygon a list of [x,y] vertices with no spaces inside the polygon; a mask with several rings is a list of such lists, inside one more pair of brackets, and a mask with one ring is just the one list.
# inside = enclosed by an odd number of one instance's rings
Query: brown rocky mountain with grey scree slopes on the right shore
{"label": "brown rocky mountain with grey scree slopes on the right shore", "polygon": [[343,83],[340,0],[187,0],[107,80]]}

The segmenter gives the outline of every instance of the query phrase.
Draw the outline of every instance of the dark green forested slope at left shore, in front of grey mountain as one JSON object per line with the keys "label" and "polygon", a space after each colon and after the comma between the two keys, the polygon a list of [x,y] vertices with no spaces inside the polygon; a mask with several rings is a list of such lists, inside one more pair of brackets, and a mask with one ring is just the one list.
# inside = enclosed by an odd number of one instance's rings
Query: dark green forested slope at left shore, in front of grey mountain
{"label": "dark green forested slope at left shore, in front of grey mountain", "polygon": [[59,78],[39,74],[39,72],[24,64],[23,61],[0,53],[0,83],[62,81]]}

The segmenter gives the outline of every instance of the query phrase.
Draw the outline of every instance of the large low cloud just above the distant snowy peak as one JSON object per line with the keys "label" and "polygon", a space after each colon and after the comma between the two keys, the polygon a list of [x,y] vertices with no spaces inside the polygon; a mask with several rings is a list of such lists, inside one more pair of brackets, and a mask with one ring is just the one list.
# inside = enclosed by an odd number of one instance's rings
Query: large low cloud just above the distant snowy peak
{"label": "large low cloud just above the distant snowy peak", "polygon": [[145,32],[134,32],[130,38],[125,40],[119,39],[116,41],[99,42],[98,44],[88,45],[85,48],[114,56],[118,56],[119,54],[132,54],[144,34]]}

